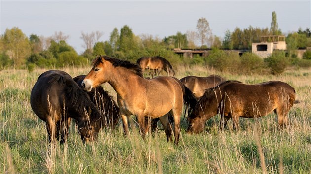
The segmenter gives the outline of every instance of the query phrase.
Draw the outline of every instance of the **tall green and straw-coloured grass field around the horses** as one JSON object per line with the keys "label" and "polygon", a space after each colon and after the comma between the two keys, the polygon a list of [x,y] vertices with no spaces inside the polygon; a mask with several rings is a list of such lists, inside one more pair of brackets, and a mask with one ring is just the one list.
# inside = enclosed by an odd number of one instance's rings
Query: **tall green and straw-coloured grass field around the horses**
{"label": "tall green and straw-coloured grass field around the horses", "polygon": [[[62,70],[75,77],[89,69]],[[31,89],[44,71],[0,71],[0,173],[311,173],[311,69],[272,76],[179,67],[177,78],[219,74],[247,84],[280,80],[295,87],[296,98],[303,102],[290,110],[291,127],[282,131],[277,131],[274,114],[241,118],[238,132],[230,121],[222,133],[219,116],[214,116],[198,135],[185,134],[185,119],[178,146],[166,142],[164,131],[143,141],[135,126],[125,138],[121,125],[101,130],[97,142],[83,145],[73,124],[67,144],[50,145],[45,122],[30,106]],[[116,96],[109,85],[105,88]]]}

